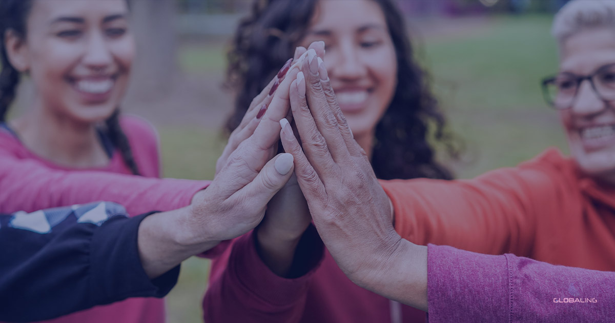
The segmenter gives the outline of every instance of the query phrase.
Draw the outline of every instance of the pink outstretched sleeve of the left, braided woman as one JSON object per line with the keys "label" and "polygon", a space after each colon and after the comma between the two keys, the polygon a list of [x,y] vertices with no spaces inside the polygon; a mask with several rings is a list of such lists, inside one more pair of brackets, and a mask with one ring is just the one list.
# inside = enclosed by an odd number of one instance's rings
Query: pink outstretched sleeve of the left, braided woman
{"label": "pink outstretched sleeve of the left, braided woman", "polygon": [[208,181],[147,178],[97,171],[54,170],[32,159],[0,154],[0,212],[111,201],[130,215],[189,205]]}

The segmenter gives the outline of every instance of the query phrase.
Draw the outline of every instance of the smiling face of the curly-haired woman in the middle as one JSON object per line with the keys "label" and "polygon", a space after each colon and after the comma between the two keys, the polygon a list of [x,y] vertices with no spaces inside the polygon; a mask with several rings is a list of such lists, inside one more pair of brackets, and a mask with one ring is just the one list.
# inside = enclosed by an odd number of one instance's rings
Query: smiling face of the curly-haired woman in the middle
{"label": "smiling face of the curly-haired woman in the middle", "polygon": [[325,65],[355,138],[373,135],[397,85],[383,10],[371,0],[321,0],[301,46],[324,41]]}

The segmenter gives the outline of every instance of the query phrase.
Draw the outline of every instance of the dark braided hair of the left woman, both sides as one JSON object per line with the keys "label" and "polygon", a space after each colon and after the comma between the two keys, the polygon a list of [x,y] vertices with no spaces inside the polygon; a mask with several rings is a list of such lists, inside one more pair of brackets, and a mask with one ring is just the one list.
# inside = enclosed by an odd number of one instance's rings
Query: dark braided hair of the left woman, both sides
{"label": "dark braided hair of the left woman, both sides", "polygon": [[[129,3],[129,2],[127,2]],[[4,122],[11,103],[15,100],[15,92],[20,80],[20,73],[9,62],[4,48],[4,34],[13,31],[22,39],[26,38],[26,21],[33,0],[0,0],[0,122]],[[140,175],[137,162],[132,156],[128,138],[119,124],[119,108],[106,119],[106,134],[114,147],[119,149],[124,163],[135,175]]]}

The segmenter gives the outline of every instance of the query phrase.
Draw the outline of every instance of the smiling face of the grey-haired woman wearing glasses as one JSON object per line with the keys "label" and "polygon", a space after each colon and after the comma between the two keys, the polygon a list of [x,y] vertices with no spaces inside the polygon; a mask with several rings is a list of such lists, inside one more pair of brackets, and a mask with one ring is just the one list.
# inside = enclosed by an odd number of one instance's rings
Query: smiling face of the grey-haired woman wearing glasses
{"label": "smiling face of the grey-haired woman wearing glasses", "polygon": [[[580,31],[566,39],[560,51],[560,72],[592,74],[601,66],[615,63],[615,31]],[[601,100],[589,82],[584,81],[573,105],[560,111],[560,116],[570,151],[581,170],[615,183],[615,102]]]}

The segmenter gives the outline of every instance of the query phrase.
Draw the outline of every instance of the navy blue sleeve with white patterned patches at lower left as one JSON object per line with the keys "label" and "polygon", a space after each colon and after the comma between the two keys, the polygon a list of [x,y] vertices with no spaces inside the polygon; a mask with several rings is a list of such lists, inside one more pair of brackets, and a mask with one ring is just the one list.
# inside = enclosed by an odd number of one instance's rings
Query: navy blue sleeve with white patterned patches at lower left
{"label": "navy blue sleeve with white patterned patches at lower left", "polygon": [[[151,212],[154,213],[154,212]],[[138,227],[109,202],[0,216],[0,320],[38,321],[129,297],[164,297],[177,266],[149,279]]]}

